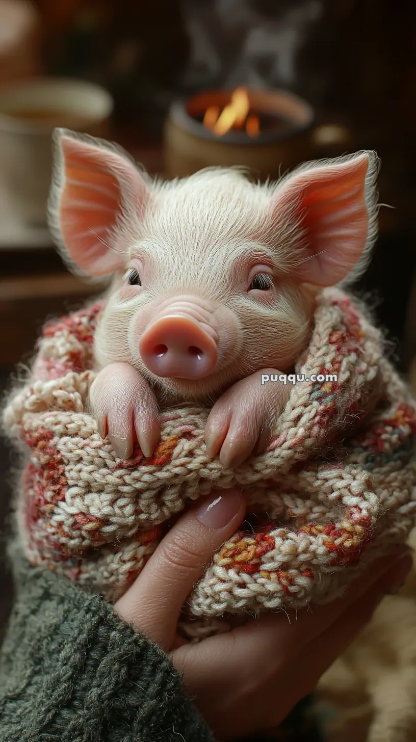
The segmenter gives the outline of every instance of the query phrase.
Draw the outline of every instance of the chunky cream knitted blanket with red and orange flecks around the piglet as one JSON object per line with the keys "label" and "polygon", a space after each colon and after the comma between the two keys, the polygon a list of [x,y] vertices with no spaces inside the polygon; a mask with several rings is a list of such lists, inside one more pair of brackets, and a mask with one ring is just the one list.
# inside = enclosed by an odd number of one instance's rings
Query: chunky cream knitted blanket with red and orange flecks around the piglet
{"label": "chunky cream knitted blanket with red and orange flecks around the piglet", "polygon": [[[169,519],[213,485],[240,487],[247,521],[215,555],[189,613],[219,617],[337,597],[369,559],[406,539],[416,509],[416,404],[365,309],[338,289],[316,307],[266,453],[237,470],[208,459],[209,410],[164,410],[154,456],[117,458],[88,411],[100,300],[45,326],[4,410],[27,452],[16,519],[27,559],[114,601]],[[308,381],[313,375],[336,381]],[[318,378],[322,378],[319,376]]]}

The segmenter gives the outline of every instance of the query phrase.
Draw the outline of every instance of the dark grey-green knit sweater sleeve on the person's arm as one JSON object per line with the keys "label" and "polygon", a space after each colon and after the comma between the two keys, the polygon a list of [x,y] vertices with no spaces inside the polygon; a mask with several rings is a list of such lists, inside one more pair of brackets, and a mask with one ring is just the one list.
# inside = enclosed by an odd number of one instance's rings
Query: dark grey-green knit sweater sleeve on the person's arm
{"label": "dark grey-green knit sweater sleeve on the person's arm", "polygon": [[0,657],[1,742],[213,742],[154,643],[100,597],[10,547],[16,603]]}

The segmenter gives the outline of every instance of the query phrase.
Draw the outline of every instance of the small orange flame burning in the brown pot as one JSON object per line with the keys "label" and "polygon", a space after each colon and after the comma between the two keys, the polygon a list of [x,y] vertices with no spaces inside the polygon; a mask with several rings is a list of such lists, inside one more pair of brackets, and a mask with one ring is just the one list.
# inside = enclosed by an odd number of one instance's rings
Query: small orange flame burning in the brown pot
{"label": "small orange flame burning in the brown pot", "polygon": [[247,88],[237,88],[231,101],[220,112],[216,105],[210,105],[204,114],[204,126],[207,126],[218,137],[227,134],[230,129],[244,127],[249,137],[258,137],[260,133],[259,116],[250,114],[250,99]]}

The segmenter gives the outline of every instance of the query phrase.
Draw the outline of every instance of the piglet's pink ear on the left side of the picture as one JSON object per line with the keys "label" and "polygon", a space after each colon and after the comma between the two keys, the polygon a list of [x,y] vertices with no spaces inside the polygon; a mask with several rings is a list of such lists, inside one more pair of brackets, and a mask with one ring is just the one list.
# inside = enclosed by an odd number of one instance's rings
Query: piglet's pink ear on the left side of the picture
{"label": "piglet's pink ear on the left side of the picture", "polygon": [[53,142],[48,223],[65,260],[91,276],[123,269],[126,229],[140,222],[149,184],[128,154],[103,139],[55,129]]}

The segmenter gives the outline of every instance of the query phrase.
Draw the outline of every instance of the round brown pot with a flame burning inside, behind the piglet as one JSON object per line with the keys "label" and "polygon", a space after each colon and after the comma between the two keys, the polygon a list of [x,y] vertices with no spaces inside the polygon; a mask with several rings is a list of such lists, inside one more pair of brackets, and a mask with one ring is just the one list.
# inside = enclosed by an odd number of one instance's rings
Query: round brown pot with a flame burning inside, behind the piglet
{"label": "round brown pot with a flame burning inside, behind the piglet", "polygon": [[265,88],[204,91],[175,101],[165,125],[166,175],[242,165],[260,180],[276,179],[299,162],[328,156],[322,144],[342,154],[345,128],[315,128],[314,119],[299,96]]}

